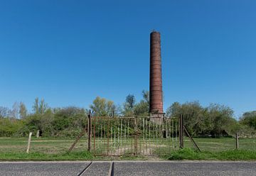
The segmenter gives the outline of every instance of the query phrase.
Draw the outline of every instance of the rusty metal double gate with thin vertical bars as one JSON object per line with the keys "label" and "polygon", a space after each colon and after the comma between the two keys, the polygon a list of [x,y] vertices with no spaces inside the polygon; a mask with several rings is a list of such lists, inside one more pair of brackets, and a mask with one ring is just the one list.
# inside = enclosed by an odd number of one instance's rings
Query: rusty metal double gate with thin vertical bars
{"label": "rusty metal double gate with thin vertical bars", "polygon": [[178,118],[92,117],[95,155],[164,155],[179,146]]}

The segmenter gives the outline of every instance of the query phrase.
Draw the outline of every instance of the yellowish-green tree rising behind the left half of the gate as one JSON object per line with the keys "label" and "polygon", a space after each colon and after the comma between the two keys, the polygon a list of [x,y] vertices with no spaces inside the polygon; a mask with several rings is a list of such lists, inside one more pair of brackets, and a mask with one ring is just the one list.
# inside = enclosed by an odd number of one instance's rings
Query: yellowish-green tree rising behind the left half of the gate
{"label": "yellowish-green tree rising behind the left half of the gate", "polygon": [[93,100],[90,108],[95,112],[95,116],[112,116],[113,112],[117,110],[114,101],[100,97]]}

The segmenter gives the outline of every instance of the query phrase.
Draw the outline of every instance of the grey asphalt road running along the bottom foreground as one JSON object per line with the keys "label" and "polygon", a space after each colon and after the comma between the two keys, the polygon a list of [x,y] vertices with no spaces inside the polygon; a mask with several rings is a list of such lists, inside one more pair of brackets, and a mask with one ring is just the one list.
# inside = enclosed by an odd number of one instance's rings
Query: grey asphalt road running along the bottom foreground
{"label": "grey asphalt road running along the bottom foreground", "polygon": [[256,162],[0,162],[0,175],[256,175]]}

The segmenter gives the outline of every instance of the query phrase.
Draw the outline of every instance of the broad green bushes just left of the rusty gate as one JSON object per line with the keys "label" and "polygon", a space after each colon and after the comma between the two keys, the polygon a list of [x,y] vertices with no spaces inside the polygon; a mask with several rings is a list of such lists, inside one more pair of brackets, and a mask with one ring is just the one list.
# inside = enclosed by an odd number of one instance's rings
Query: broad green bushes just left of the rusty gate
{"label": "broad green bushes just left of the rusty gate", "polygon": [[85,109],[66,107],[47,109],[43,114],[31,114],[22,119],[23,126],[18,130],[19,136],[27,136],[31,131],[41,131],[42,136],[77,136],[87,124]]}

